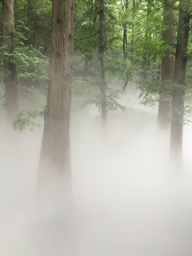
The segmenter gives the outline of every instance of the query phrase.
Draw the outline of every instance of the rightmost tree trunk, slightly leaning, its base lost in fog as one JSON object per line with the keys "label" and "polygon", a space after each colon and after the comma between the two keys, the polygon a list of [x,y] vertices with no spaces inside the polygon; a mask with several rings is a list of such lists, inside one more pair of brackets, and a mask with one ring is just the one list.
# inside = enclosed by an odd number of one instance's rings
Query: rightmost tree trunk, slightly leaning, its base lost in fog
{"label": "rightmost tree trunk, slightly leaning, its base lost in fog", "polygon": [[[188,11],[186,6],[189,3],[190,1],[188,0],[180,1],[174,68],[174,83],[183,86],[186,85],[186,55],[188,50],[189,21],[191,18],[190,14],[186,13]],[[184,94],[185,92],[182,87],[176,88],[173,92],[170,154],[175,159],[179,159],[182,156]]]}

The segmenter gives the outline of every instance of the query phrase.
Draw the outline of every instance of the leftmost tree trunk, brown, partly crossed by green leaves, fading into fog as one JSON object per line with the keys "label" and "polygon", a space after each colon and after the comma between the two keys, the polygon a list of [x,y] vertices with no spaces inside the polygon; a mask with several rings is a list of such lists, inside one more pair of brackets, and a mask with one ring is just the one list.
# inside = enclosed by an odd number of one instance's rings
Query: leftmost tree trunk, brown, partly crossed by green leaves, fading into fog
{"label": "leftmost tree trunk, brown, partly crossed by green leaves, fading into fog", "polygon": [[13,63],[13,56],[10,56],[14,51],[14,36],[12,33],[14,31],[14,0],[3,0],[2,11],[3,43],[9,53],[9,55],[4,55],[6,118],[8,127],[11,128],[15,116],[18,114],[16,65]]}

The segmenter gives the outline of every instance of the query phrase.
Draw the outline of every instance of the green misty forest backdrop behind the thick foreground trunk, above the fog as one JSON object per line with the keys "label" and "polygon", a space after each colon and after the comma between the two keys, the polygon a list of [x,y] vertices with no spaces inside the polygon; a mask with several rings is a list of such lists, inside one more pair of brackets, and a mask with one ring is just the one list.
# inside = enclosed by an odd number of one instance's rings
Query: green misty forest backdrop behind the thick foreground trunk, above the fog
{"label": "green misty forest backdrop behind the thick foreground trunk, above the fog", "polygon": [[[72,111],[96,105],[104,124],[108,111],[124,110],[119,92],[127,90],[132,98],[138,89],[142,104],[159,102],[159,126],[171,122],[171,145],[181,154],[183,123],[189,121],[183,117],[191,111],[191,1],[76,1],[75,9]],[[51,1],[16,1],[14,12],[7,37],[14,38],[11,48],[1,39],[3,105],[9,95],[3,80],[11,72],[6,59],[16,67],[20,101],[34,93],[46,95],[49,81]],[[5,103],[7,112],[13,102]],[[28,125],[33,130],[31,117],[43,113],[21,112],[15,129]]]}

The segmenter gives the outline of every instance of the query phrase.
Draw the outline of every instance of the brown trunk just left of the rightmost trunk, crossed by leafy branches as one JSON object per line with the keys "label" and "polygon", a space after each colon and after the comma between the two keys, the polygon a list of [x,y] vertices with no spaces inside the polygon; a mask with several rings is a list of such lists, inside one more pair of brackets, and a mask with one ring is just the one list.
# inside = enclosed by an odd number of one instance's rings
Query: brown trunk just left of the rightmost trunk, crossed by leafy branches
{"label": "brown trunk just left of the rightmost trunk, crossed by leafy branches", "polygon": [[[164,5],[164,25],[168,26],[166,30],[163,31],[163,40],[166,43],[175,43],[176,31],[174,28],[174,13],[170,6]],[[166,55],[162,58],[161,62],[161,82],[166,81],[174,82],[174,63],[175,58],[171,56],[171,51],[166,50]],[[171,117],[171,102],[165,100],[167,95],[161,94],[159,100],[159,110],[158,110],[158,125],[161,128],[169,127],[167,119]]]}

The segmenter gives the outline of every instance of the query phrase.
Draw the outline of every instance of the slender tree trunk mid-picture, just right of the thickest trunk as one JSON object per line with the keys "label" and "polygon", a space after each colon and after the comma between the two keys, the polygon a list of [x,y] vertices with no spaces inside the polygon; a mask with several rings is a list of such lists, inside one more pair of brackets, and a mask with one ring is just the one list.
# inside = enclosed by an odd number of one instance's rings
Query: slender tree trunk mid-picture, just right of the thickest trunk
{"label": "slender tree trunk mid-picture, just right of the thickest trunk", "polygon": [[100,63],[101,63],[101,112],[102,112],[102,129],[105,133],[107,126],[106,110],[106,77],[105,77],[105,11],[104,0],[100,0]]}

